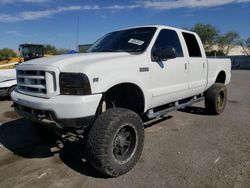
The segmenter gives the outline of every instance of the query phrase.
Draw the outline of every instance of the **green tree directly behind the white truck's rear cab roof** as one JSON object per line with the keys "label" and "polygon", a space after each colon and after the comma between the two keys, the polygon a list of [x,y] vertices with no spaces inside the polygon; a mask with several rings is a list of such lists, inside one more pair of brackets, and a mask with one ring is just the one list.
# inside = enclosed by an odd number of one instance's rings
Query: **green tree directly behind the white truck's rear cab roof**
{"label": "green tree directly behind the white truck's rear cab roof", "polygon": [[197,23],[191,28],[191,31],[196,32],[200,36],[206,52],[213,49],[213,45],[219,36],[219,31],[210,24]]}

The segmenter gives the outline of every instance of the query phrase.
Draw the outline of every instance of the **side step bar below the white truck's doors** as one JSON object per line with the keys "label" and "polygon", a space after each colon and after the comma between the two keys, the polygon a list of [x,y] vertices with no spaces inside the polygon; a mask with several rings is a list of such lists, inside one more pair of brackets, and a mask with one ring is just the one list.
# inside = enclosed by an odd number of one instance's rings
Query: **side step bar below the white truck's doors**
{"label": "side step bar below the white truck's doors", "polygon": [[200,97],[194,96],[189,101],[187,101],[185,103],[181,103],[181,104],[179,104],[179,101],[176,101],[174,106],[166,108],[164,110],[160,110],[157,112],[154,112],[154,109],[149,110],[147,113],[147,116],[149,119],[159,118],[163,115],[166,115],[167,113],[169,113],[171,111],[185,108],[186,106],[191,106],[193,103],[200,102],[200,101],[204,100],[204,98],[205,97],[203,97],[203,96],[200,96]]}

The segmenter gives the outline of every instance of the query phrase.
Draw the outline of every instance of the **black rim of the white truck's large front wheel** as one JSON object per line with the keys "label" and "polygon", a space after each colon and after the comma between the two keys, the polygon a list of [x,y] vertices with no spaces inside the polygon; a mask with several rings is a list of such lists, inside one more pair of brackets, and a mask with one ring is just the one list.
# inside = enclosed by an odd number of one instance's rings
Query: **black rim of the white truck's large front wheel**
{"label": "black rim of the white truck's large front wheel", "polygon": [[136,140],[136,131],[131,125],[119,129],[113,141],[113,155],[118,162],[126,162],[133,156]]}

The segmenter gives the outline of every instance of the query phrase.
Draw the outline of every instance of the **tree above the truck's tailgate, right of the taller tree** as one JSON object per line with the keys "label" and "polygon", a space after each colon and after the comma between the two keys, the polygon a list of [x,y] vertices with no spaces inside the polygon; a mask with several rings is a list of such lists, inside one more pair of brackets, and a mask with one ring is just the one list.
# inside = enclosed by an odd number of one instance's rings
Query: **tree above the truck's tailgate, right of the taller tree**
{"label": "tree above the truck's tailgate, right of the taller tree", "polygon": [[230,52],[232,48],[240,44],[240,35],[237,32],[231,31],[222,35],[218,39],[219,49],[223,51],[226,55]]}

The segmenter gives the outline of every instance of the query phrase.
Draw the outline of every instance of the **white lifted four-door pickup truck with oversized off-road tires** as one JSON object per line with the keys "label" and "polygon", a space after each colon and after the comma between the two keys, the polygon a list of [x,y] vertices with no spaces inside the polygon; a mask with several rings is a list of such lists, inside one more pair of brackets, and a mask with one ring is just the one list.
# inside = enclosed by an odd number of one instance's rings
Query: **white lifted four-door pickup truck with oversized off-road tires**
{"label": "white lifted four-door pickup truck with oversized off-road tires", "polygon": [[196,33],[142,26],[111,32],[86,54],[19,65],[12,100],[33,121],[87,132],[87,160],[115,177],[138,161],[143,122],[203,99],[222,113],[230,78],[230,60],[207,59]]}

